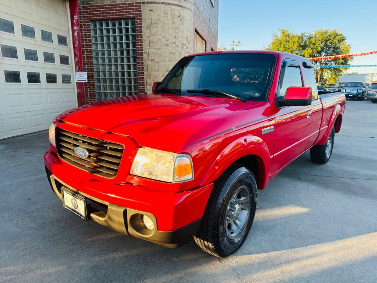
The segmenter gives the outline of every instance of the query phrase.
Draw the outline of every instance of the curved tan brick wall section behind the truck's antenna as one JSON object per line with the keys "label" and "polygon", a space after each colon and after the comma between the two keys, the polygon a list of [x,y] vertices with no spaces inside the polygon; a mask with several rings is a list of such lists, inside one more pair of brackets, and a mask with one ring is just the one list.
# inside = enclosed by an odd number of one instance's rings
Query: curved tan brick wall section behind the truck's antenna
{"label": "curved tan brick wall section behind the truck's antenna", "polygon": [[[169,3],[183,1],[170,1]],[[152,92],[152,84],[161,81],[170,69],[182,57],[193,53],[193,13],[191,4],[179,7],[172,5],[142,5],[144,71],[147,70],[150,20],[152,32],[150,36],[148,86]]]}

